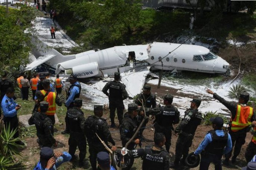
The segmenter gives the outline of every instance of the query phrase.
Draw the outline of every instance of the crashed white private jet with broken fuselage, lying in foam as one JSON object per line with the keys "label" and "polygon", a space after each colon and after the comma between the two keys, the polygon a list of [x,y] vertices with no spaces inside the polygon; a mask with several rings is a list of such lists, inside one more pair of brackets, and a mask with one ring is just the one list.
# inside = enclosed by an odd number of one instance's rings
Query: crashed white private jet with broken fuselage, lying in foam
{"label": "crashed white private jet with broken fuselage, lying in foam", "polygon": [[56,74],[75,74],[78,78],[108,77],[119,71],[131,97],[140,93],[150,68],[224,74],[230,67],[227,61],[198,45],[153,42],[63,56],[38,39],[32,38],[32,41],[36,45],[32,52],[37,60],[26,70],[44,63],[56,68]]}

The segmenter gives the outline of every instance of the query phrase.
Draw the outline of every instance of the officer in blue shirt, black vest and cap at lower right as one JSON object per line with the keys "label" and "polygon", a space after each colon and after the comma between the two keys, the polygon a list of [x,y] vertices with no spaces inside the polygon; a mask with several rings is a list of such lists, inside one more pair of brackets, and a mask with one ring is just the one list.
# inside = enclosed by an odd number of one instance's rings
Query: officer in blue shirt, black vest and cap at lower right
{"label": "officer in blue shirt, black vest and cap at lower right", "polygon": [[208,169],[211,162],[214,163],[215,170],[222,170],[221,157],[232,150],[232,141],[230,134],[222,130],[224,122],[221,117],[210,118],[210,121],[213,130],[207,132],[205,139],[194,154],[199,155],[201,153],[199,170]]}

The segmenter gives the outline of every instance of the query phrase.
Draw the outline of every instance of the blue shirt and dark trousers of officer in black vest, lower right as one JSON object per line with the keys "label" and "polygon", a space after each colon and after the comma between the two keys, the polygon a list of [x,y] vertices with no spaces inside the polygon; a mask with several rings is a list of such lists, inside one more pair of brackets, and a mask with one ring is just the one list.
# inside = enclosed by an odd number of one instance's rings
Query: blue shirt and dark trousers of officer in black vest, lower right
{"label": "blue shirt and dark trousers of officer in black vest, lower right", "polygon": [[[215,133],[218,137],[224,137],[225,133],[223,130],[215,130]],[[232,141],[230,134],[228,135],[227,144],[224,149],[224,153],[221,154],[208,154],[207,151],[202,155],[202,160],[200,163],[200,170],[208,169],[211,162],[215,164],[215,170],[222,169],[221,167],[221,157],[223,154],[227,154],[232,150]],[[207,133],[197,150],[194,152],[195,155],[202,153],[203,150],[206,149],[207,145],[209,145],[213,141],[212,134]]]}

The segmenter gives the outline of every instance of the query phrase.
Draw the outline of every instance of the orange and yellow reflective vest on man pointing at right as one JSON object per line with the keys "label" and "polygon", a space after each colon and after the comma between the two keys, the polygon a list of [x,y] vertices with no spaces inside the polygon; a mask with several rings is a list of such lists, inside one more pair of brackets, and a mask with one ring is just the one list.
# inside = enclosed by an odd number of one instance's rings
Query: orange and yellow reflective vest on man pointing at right
{"label": "orange and yellow reflective vest on man pointing at right", "polygon": [[251,125],[251,118],[253,115],[253,108],[250,106],[237,105],[237,113],[232,120],[231,131],[236,132]]}

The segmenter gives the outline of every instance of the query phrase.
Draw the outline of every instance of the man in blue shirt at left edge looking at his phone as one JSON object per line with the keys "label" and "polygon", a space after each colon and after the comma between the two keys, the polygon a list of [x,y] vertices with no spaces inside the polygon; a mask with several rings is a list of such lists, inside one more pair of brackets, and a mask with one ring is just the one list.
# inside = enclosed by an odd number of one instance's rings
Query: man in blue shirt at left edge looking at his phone
{"label": "man in blue shirt at left edge looking at his phone", "polygon": [[[21,105],[18,105],[13,100],[14,96],[14,89],[12,87],[9,87],[6,91],[6,94],[3,97],[3,100],[1,102],[1,107],[3,109],[3,121],[5,128],[7,129],[8,126],[10,126],[10,131],[14,131],[17,129],[16,133],[13,135],[13,138],[19,137],[19,131],[18,131],[18,116],[17,111],[21,108]],[[22,141],[16,141],[16,144],[25,145]]]}

